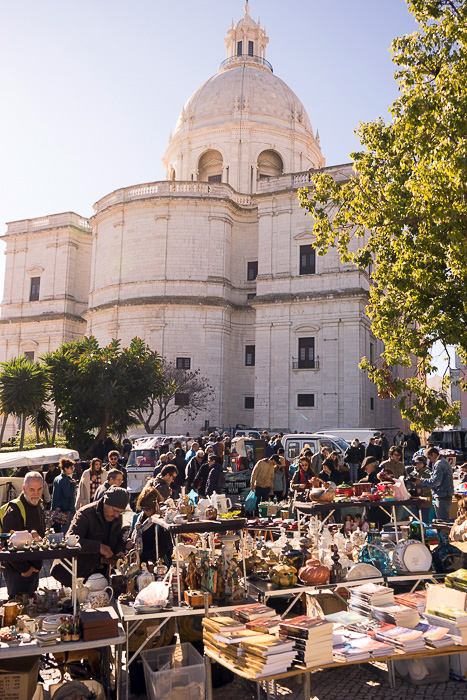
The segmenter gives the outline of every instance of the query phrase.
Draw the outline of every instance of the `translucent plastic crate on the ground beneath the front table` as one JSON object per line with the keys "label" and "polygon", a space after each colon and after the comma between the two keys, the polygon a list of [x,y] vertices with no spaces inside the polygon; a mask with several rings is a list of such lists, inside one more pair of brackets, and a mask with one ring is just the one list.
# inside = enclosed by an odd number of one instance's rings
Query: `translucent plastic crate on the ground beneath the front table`
{"label": "translucent plastic crate on the ground beneath the front table", "polygon": [[203,657],[189,643],[141,652],[149,700],[204,700]]}

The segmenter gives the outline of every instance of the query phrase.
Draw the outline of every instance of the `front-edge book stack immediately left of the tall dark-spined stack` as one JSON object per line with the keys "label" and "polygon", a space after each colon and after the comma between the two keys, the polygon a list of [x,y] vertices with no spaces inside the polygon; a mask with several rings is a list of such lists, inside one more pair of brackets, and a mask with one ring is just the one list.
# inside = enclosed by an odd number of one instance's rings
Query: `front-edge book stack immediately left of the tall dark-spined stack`
{"label": "front-edge book stack immediately left of the tall dark-spined stack", "polygon": [[264,678],[285,673],[292,666],[294,659],[292,641],[279,639],[272,634],[263,634],[240,642],[237,667],[252,678]]}

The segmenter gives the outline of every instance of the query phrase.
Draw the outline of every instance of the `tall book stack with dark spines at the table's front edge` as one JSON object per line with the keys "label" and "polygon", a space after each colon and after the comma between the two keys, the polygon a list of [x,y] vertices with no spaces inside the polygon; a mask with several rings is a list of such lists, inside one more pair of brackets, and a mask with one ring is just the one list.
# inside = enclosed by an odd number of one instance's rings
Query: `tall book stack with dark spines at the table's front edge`
{"label": "tall book stack with dark spines at the table's front edge", "polygon": [[332,632],[332,622],[306,615],[279,624],[280,638],[293,642],[294,664],[305,668],[332,663]]}

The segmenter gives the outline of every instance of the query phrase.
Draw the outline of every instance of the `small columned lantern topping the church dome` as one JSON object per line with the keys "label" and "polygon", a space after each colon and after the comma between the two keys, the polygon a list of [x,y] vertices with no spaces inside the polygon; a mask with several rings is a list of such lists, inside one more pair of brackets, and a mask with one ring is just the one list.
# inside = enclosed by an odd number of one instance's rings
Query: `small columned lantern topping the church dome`
{"label": "small columned lantern topping the church dome", "polygon": [[250,6],[245,3],[245,14],[241,20],[227,32],[224,39],[227,48],[227,58],[220,65],[221,70],[234,68],[239,64],[253,65],[272,73],[272,66],[266,61],[266,44],[269,42],[266,30],[262,29],[260,22],[255,22],[250,17]]}

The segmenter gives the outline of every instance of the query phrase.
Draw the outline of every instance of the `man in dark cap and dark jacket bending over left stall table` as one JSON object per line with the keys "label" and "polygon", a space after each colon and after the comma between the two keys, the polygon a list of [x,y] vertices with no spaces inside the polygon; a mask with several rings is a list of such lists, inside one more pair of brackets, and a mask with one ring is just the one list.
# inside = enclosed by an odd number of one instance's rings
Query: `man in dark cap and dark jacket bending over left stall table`
{"label": "man in dark cap and dark jacket bending over left stall table", "polygon": [[[103,570],[102,559],[125,555],[122,513],[128,501],[125,489],[111,486],[103,498],[83,506],[75,513],[67,535],[78,535],[81,549],[88,554],[87,557],[78,557],[79,577],[88,578]],[[64,586],[71,586],[71,573],[59,560],[54,561],[50,573]]]}

